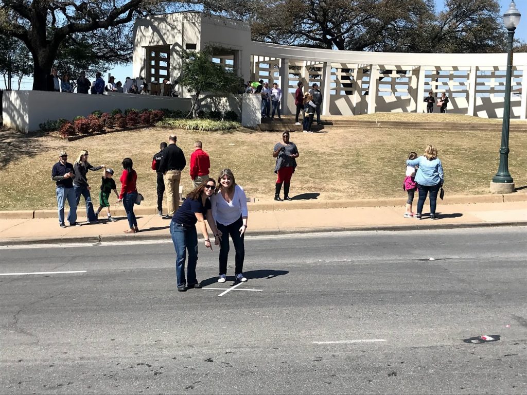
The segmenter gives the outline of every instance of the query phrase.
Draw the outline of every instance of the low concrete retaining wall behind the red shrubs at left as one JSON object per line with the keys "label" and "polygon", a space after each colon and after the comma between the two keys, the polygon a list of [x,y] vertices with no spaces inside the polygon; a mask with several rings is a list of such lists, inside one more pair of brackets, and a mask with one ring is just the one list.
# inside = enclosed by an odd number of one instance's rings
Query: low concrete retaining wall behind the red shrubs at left
{"label": "low concrete retaining wall behind the red shrubs at left", "polygon": [[110,93],[85,95],[76,93],[11,91],[3,94],[2,117],[4,126],[27,133],[37,131],[38,125],[59,118],[73,120],[93,111],[110,112],[115,108],[150,108],[188,111],[190,98]]}

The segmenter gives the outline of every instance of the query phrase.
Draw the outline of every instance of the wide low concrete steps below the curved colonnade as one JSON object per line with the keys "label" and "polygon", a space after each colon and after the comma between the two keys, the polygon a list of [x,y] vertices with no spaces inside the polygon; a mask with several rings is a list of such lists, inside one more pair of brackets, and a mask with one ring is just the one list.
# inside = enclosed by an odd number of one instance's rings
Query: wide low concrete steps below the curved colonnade
{"label": "wide low concrete steps below the curved colonnade", "polygon": [[[331,119],[321,117],[323,125],[312,126],[314,131],[330,131],[333,128],[339,129],[406,129],[406,130],[444,130],[444,131],[458,131],[458,132],[476,132],[487,131],[501,133],[501,123],[486,123],[486,122],[418,122],[418,121],[366,121],[366,120],[349,120],[341,119],[339,117],[331,117]],[[302,125],[295,125],[295,117],[291,115],[282,116],[278,118],[262,118],[258,125],[258,130],[266,132],[283,132],[294,131],[301,132]],[[526,123],[510,124],[511,132],[527,132]]]}

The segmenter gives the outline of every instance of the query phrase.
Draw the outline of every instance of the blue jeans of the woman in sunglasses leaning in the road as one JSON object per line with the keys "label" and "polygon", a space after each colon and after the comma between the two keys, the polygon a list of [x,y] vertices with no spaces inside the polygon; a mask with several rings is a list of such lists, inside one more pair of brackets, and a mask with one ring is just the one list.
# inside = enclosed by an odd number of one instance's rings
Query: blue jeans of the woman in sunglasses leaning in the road
{"label": "blue jeans of the woman in sunglasses leaning in the road", "polygon": [[186,228],[174,221],[170,222],[170,235],[175,249],[175,275],[178,278],[178,287],[184,287],[185,281],[185,258],[189,252],[189,263],[187,265],[188,284],[197,284],[196,264],[198,263],[198,233],[196,226]]}

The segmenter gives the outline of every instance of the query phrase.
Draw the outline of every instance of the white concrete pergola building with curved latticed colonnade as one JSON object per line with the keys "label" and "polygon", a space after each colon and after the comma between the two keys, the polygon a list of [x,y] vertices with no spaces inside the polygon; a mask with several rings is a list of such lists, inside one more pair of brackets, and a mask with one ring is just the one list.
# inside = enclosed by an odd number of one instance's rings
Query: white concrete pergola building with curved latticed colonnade
{"label": "white concrete pergola building with curved latticed colonnade", "polygon": [[[177,80],[177,51],[218,49],[214,61],[232,67],[245,81],[277,82],[284,113],[294,113],[294,91],[317,82],[324,115],[426,112],[424,97],[445,92],[447,112],[488,118],[503,116],[506,54],[414,54],[318,50],[250,40],[245,22],[182,12],[140,19],[134,27],[134,76],[145,81]],[[522,90],[527,54],[514,56],[511,118],[524,119]],[[182,97],[188,93],[180,88]],[[435,108],[435,112],[438,108]]]}

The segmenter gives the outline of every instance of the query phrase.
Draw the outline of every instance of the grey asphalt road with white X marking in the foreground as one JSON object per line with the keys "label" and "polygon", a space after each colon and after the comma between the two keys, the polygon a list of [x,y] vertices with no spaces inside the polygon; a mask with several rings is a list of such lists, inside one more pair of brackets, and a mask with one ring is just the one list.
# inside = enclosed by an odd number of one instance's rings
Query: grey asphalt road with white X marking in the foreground
{"label": "grey asphalt road with white X marking in the foreground", "polygon": [[0,276],[0,392],[527,393],[526,231],[248,237],[236,288],[200,244],[185,293],[170,243],[0,248],[83,271]]}

